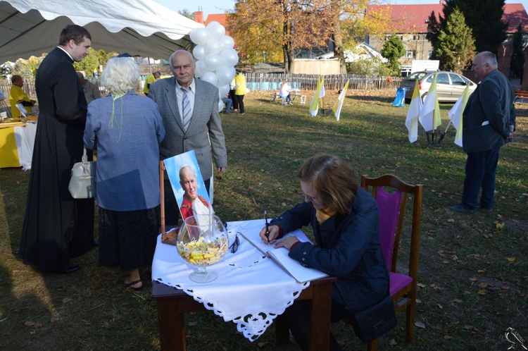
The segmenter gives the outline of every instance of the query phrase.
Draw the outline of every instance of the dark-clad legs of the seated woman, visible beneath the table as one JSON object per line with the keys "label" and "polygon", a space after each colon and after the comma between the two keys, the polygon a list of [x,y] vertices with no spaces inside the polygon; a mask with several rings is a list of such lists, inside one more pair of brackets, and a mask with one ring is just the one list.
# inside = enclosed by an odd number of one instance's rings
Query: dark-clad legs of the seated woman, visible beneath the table
{"label": "dark-clad legs of the seated woman, visible beneath the table", "polygon": [[[296,301],[284,312],[286,320],[288,321],[291,335],[294,335],[297,345],[301,350],[308,351],[308,344],[310,340],[310,310],[311,301],[301,300]],[[343,306],[337,304],[332,300],[332,322],[337,322],[346,316]],[[337,343],[334,335],[330,334],[330,349],[329,351],[341,351],[341,346]]]}

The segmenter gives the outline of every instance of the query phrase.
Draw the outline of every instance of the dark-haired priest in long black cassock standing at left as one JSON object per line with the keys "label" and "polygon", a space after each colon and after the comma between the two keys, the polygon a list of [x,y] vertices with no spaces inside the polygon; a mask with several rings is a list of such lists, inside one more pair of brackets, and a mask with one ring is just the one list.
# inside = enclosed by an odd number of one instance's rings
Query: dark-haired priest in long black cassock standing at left
{"label": "dark-haired priest in long black cassock standing at left", "polygon": [[73,61],[82,61],[91,44],[84,27],[66,26],[35,78],[39,118],[18,257],[39,271],[76,271],[80,266],[70,258],[93,245],[94,199],[73,199],[68,191],[72,166],[81,161],[87,115]]}

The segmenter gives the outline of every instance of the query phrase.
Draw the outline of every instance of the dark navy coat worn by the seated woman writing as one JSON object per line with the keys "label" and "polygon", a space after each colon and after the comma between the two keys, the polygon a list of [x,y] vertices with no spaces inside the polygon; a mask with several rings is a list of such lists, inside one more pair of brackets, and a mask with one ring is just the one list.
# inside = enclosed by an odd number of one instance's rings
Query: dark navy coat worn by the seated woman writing
{"label": "dark navy coat worn by the seated woman writing", "polygon": [[[308,224],[313,228],[316,245],[301,242],[290,250],[289,256],[303,266],[338,277],[334,284],[339,285],[346,305],[353,310],[381,300],[389,292],[389,272],[379,246],[375,199],[359,188],[348,215],[337,214],[319,225],[315,212],[310,202],[303,202],[273,219],[272,223],[280,226],[283,233]],[[332,297],[345,304],[335,287]]]}

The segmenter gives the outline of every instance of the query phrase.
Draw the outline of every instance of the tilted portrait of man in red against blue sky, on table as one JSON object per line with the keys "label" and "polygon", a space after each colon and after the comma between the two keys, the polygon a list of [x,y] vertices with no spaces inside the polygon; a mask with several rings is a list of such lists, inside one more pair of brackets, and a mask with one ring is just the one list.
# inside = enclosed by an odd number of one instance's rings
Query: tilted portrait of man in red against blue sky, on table
{"label": "tilted portrait of man in red against blue sky, on table", "polygon": [[164,159],[163,163],[183,219],[193,214],[215,213],[194,150]]}

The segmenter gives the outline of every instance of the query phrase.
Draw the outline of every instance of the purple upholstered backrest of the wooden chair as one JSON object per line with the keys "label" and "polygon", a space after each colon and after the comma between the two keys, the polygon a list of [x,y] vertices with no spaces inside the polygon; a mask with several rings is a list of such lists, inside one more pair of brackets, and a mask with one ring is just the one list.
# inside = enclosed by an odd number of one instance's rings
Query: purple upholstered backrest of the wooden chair
{"label": "purple upholstered backrest of the wooden chair", "polygon": [[383,187],[378,187],[376,202],[379,211],[379,241],[381,242],[385,264],[390,271],[392,248],[400,210],[401,190],[389,194]]}

